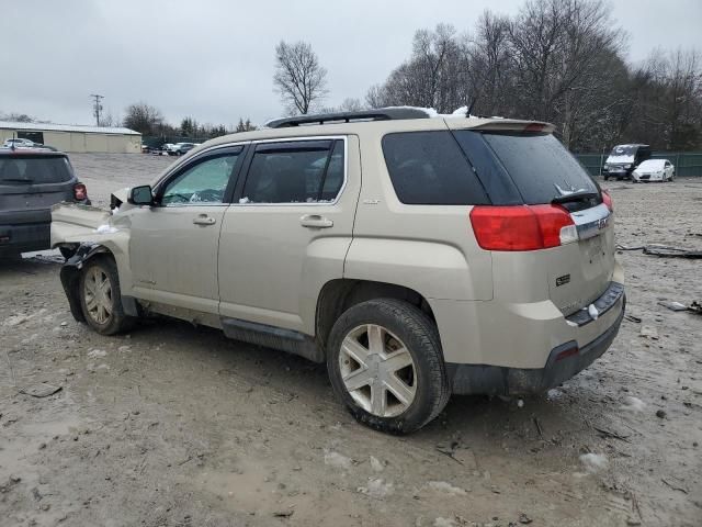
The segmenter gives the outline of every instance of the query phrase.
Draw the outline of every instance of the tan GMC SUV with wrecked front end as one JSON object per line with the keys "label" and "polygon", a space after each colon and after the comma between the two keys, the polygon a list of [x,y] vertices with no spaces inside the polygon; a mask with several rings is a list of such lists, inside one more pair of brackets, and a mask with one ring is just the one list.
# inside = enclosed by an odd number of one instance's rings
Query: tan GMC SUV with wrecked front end
{"label": "tan GMC SUV with wrecked front end", "polygon": [[269,125],[112,211],[56,206],[73,316],[110,335],[169,315],[326,361],[351,413],[392,433],[451,393],[557,385],[612,343],[612,203],[551,125],[419,109]]}

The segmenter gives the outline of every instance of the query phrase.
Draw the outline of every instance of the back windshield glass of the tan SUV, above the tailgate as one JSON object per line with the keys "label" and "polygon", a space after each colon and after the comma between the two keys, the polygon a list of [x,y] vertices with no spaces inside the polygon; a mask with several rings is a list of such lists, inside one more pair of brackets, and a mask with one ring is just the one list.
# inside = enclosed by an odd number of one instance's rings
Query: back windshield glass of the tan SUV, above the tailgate
{"label": "back windshield glass of the tan SUV, above the tailgate", "polygon": [[[461,131],[462,134],[478,132]],[[571,192],[598,188],[568,150],[551,134],[482,133],[514,182],[524,203],[551,203]],[[458,138],[462,142],[461,138]]]}

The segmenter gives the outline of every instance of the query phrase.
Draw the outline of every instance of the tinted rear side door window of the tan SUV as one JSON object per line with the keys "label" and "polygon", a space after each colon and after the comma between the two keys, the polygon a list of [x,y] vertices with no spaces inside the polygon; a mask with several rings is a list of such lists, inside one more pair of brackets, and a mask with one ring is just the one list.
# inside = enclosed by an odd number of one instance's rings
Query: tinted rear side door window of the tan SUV
{"label": "tinted rear side door window of the tan SUV", "polygon": [[343,184],[343,141],[259,145],[240,202],[335,201]]}

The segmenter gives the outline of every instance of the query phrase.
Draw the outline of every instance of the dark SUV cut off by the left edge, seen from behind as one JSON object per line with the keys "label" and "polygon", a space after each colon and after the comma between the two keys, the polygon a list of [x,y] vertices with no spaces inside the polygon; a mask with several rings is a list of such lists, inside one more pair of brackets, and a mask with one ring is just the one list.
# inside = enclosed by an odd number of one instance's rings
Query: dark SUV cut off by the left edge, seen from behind
{"label": "dark SUV cut off by the left edge, seen from behind", "polygon": [[52,205],[61,201],[90,204],[66,154],[0,148],[0,257],[48,249]]}

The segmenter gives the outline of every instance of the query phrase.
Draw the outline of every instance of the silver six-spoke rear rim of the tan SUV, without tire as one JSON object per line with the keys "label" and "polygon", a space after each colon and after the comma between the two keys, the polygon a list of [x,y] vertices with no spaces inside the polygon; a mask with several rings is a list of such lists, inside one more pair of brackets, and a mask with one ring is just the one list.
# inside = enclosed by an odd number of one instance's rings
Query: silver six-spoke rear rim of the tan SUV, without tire
{"label": "silver six-spoke rear rim of the tan SUV, without tire", "polygon": [[375,324],[350,330],[339,352],[341,379],[353,401],[377,417],[405,412],[417,394],[417,368],[405,344]]}

